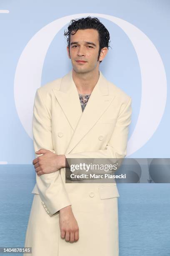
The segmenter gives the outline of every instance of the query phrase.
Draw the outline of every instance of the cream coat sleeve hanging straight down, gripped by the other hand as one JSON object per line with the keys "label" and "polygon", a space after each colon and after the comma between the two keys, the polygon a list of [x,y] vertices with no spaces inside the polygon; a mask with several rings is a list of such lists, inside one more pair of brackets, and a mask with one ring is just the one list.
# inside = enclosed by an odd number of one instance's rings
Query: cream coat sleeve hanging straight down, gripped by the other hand
{"label": "cream coat sleeve hanging straight down, gripped by the other hand", "polygon": [[[37,89],[35,95],[32,132],[35,151],[43,148],[55,154],[52,144],[50,112],[42,100],[40,89]],[[36,157],[41,155],[35,154]],[[42,205],[50,217],[59,213],[60,209],[63,207],[71,205],[64,182],[62,181],[60,170],[40,176],[36,174],[36,183]]]}

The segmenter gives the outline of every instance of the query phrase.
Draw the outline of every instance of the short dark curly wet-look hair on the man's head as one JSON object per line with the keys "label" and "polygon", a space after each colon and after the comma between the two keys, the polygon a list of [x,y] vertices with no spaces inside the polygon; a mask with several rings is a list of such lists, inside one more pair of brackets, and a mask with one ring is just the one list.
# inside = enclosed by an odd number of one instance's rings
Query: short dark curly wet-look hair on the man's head
{"label": "short dark curly wet-look hair on the man's head", "polygon": [[[90,16],[81,19],[71,20],[68,30],[64,31],[64,36],[67,37],[67,46],[69,47],[70,53],[70,36],[74,35],[78,29],[87,29],[93,28],[96,29],[99,33],[99,54],[98,60],[100,57],[101,49],[107,47],[109,49],[110,45],[110,34],[107,28],[100,22],[98,18],[91,18]],[[102,62],[102,61],[100,61]]]}

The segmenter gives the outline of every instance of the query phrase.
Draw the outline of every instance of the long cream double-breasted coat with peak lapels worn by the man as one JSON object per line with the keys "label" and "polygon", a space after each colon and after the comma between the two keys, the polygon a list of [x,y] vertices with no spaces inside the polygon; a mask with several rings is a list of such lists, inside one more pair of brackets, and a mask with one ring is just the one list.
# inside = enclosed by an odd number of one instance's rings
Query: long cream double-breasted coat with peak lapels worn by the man
{"label": "long cream double-breasted coat with peak lapels worn by the man", "polygon": [[[37,89],[33,111],[35,151],[66,158],[124,158],[131,97],[100,72],[82,112],[72,70]],[[35,155],[40,156],[40,155]],[[65,168],[37,176],[25,247],[32,256],[118,256],[116,183],[65,183]],[[72,205],[79,240],[60,237],[59,210]],[[26,255],[26,254],[25,254]]]}

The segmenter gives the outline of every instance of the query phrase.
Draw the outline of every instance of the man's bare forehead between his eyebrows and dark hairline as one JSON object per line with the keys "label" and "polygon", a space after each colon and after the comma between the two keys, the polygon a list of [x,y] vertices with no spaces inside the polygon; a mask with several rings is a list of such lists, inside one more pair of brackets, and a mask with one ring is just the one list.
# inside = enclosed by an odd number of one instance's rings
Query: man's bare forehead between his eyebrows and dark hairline
{"label": "man's bare forehead between his eyebrows and dark hairline", "polygon": [[[73,32],[73,31],[72,31]],[[70,36],[70,43],[72,41],[90,41],[95,44],[99,44],[99,33],[96,29],[88,28],[88,29],[78,29],[74,35]]]}

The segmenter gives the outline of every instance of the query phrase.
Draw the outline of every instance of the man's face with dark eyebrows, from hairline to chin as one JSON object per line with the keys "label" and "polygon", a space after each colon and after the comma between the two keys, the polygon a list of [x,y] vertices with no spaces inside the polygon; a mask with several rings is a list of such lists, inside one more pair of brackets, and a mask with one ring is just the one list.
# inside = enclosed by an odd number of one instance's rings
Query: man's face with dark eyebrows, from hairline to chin
{"label": "man's face with dark eyebrows, from hairline to chin", "polygon": [[[70,54],[72,67],[77,73],[87,73],[99,67],[99,34],[95,29],[77,30],[70,36]],[[83,61],[83,62],[81,62]]]}

